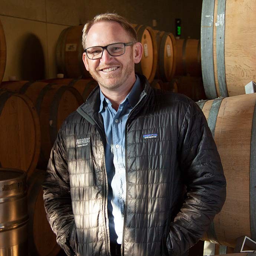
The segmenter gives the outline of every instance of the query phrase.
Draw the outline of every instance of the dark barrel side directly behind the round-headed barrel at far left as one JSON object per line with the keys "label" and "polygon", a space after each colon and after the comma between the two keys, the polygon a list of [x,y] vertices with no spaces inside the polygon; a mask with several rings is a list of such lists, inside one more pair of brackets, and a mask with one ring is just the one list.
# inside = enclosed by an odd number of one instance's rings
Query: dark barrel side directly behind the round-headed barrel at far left
{"label": "dark barrel side directly behind the round-headed barrel at far left", "polygon": [[37,166],[45,169],[62,122],[83,103],[82,96],[73,87],[43,82],[2,82],[1,88],[24,93],[35,105],[41,128]]}

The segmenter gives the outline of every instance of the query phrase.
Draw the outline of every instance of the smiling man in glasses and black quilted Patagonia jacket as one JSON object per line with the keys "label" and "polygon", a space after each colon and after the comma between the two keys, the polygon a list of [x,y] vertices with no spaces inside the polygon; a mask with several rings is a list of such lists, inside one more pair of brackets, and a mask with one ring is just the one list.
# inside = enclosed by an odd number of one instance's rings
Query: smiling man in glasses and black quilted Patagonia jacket
{"label": "smiling man in glasses and black quilted Patagonia jacket", "polygon": [[135,75],[142,45],[124,18],[96,16],[83,47],[99,87],[63,123],[43,184],[57,241],[67,255],[181,255],[226,196],[207,121]]}

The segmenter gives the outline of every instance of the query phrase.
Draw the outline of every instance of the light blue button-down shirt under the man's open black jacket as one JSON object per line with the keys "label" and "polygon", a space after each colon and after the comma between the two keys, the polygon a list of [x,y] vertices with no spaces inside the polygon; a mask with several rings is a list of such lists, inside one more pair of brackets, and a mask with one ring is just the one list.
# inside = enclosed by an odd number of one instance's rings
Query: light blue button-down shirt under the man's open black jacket
{"label": "light blue button-down shirt under the man's open black jacket", "polygon": [[140,78],[121,102],[117,111],[109,99],[101,95],[99,112],[104,120],[106,134],[105,163],[108,176],[108,219],[111,242],[122,243],[124,226],[124,207],[126,198],[125,177],[125,124],[132,108],[141,95]]}

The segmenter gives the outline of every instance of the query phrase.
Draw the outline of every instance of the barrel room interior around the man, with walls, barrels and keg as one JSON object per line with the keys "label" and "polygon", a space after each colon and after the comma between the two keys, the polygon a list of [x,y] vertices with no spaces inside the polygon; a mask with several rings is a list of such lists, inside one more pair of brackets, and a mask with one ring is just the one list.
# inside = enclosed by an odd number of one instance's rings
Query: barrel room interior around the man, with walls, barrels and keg
{"label": "barrel room interior around the man, with walls, barrels and keg", "polygon": [[253,255],[255,0],[1,0],[0,255],[65,256],[42,182],[62,122],[98,85],[82,62],[82,29],[105,12],[134,26],[143,46],[135,72],[195,101],[217,145],[226,201],[186,255]]}

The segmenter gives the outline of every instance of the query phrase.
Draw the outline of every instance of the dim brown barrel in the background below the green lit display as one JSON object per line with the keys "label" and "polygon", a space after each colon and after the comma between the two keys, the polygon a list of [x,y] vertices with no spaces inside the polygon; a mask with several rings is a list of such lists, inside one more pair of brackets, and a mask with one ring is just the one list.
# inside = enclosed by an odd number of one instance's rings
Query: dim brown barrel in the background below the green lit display
{"label": "dim brown barrel in the background below the green lit display", "polygon": [[198,39],[176,40],[176,56],[175,76],[202,76]]}

